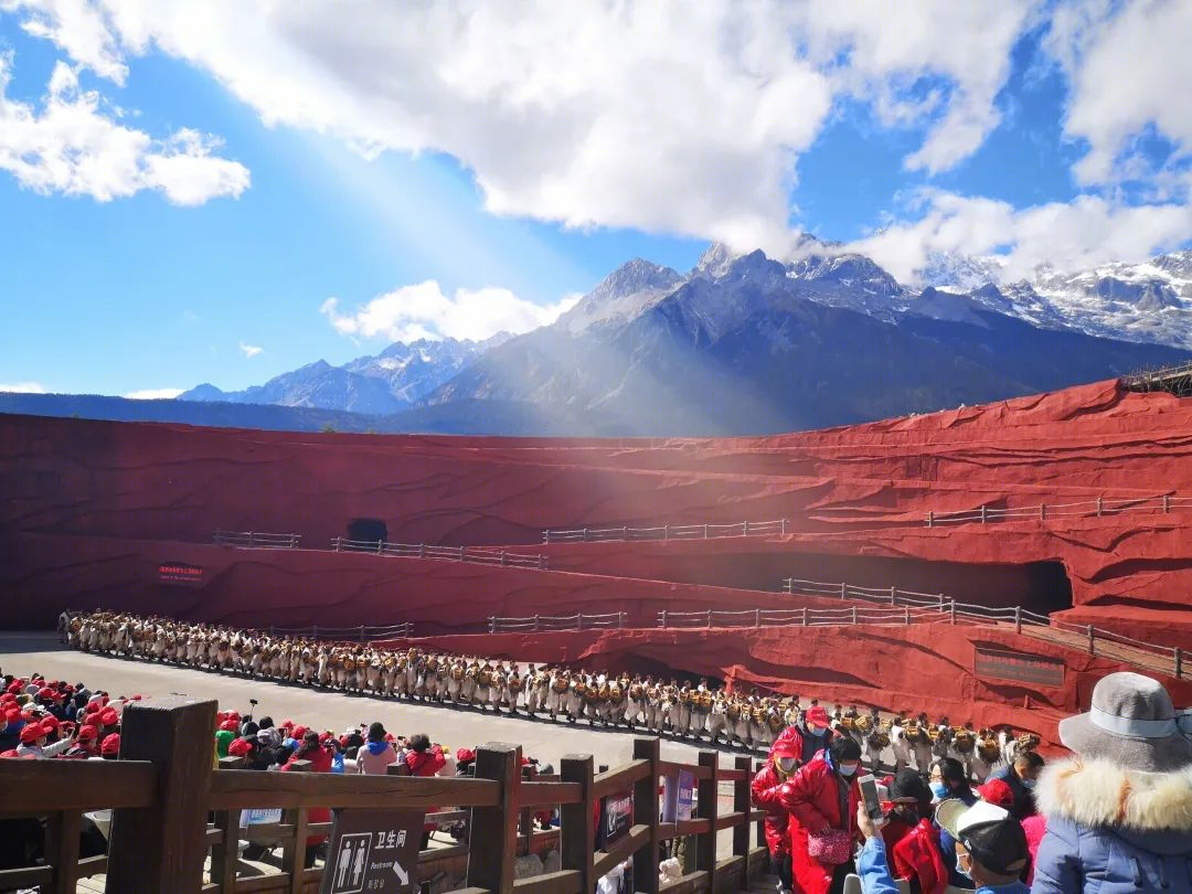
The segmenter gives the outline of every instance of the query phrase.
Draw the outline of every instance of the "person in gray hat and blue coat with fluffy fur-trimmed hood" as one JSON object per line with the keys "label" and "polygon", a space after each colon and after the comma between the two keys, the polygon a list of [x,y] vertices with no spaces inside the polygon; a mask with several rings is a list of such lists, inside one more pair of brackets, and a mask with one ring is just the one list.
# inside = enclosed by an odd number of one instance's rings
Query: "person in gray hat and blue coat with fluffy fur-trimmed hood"
{"label": "person in gray hat and blue coat with fluffy fur-trimmed hood", "polygon": [[1192,715],[1138,673],[1111,673],[1060,722],[1075,757],[1048,765],[1033,894],[1192,894]]}

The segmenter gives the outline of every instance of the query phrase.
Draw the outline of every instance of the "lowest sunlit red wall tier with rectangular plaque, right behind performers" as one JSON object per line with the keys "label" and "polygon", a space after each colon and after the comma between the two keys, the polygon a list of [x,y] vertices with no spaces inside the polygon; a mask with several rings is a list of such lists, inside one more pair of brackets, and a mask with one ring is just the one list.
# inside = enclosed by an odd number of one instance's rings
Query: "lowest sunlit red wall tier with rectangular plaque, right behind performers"
{"label": "lowest sunlit red wall tier with rectangular plaque, right behind performers", "polygon": [[[906,628],[764,628],[608,631],[433,637],[411,640],[426,648],[462,654],[569,663],[594,670],[670,676],[675,668],[734,685],[817,696],[824,701],[876,704],[887,710],[926,710],[932,718],[975,725],[1012,724],[1057,744],[1055,724],[1082,710],[1095,682],[1132,670],[1110,659],[1016,635],[1012,631],[940,625]],[[404,645],[406,640],[395,640]],[[1058,673],[1054,685],[999,678],[977,671],[979,650],[1019,658],[1004,671]],[[1024,669],[1023,657],[1030,657]],[[1033,665],[1033,666],[1031,666]],[[1163,678],[1177,703],[1192,703],[1192,682]]]}

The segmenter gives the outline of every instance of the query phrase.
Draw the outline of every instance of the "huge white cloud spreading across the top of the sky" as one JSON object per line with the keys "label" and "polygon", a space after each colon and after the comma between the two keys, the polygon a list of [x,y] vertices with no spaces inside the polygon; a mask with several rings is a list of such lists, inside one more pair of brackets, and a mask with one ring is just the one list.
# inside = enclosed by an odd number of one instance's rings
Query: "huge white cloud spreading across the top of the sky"
{"label": "huge white cloud spreading across the top of the sky", "polygon": [[[67,20],[60,2],[19,5],[100,74],[113,48],[157,48],[210,72],[268,125],[366,154],[447,153],[495,213],[770,250],[789,237],[797,157],[837,97],[927,126],[907,163],[948,168],[997,124],[1032,7],[94,0],[98,18]],[[97,20],[110,27],[101,39]],[[927,101],[913,95],[923,76],[942,81]]]}

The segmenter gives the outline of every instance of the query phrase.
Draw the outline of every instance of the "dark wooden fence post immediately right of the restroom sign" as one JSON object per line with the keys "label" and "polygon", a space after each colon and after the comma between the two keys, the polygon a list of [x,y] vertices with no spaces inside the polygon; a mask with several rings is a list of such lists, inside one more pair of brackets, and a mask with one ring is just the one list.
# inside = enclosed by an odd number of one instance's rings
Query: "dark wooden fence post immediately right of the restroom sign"
{"label": "dark wooden fence post immediately right of the restroom sign", "polygon": [[476,751],[476,778],[495,780],[501,795],[495,807],[473,807],[468,821],[467,887],[511,894],[517,856],[517,768],[521,746],[489,743]]}

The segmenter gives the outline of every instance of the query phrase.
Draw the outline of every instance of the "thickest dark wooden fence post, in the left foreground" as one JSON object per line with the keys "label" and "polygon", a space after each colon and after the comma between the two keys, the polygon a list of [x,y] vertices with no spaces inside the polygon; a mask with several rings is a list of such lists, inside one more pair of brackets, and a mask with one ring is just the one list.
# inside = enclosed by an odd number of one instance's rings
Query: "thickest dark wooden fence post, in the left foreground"
{"label": "thickest dark wooden fence post, in the left foreground", "polygon": [[170,696],[124,709],[120,758],[153,763],[157,791],[153,807],[112,811],[105,890],[198,894],[203,888],[216,707]]}

